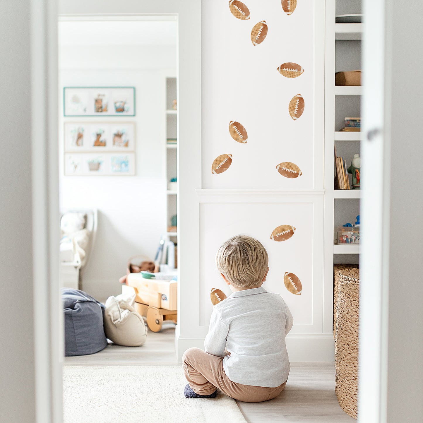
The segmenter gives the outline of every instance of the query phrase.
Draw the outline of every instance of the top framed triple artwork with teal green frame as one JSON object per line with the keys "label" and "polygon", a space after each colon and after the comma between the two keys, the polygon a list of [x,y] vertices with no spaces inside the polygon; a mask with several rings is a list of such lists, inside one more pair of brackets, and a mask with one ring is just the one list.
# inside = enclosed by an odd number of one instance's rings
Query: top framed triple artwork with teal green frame
{"label": "top framed triple artwork with teal green frame", "polygon": [[135,116],[134,87],[64,87],[64,116]]}

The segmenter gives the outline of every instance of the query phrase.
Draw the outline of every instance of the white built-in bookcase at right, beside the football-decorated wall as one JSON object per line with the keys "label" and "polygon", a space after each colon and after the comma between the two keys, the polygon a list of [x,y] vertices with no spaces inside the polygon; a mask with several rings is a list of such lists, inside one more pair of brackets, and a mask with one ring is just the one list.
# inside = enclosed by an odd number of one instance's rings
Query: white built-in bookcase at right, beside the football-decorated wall
{"label": "white built-in bookcase at right, beside the football-decorated wall", "polygon": [[[360,13],[360,1],[326,1],[325,41],[325,275],[333,277],[333,264],[358,264],[358,245],[336,244],[337,227],[356,222],[360,190],[335,190],[334,148],[350,165],[360,154],[361,132],[340,132],[345,117],[360,117],[362,87],[335,86],[335,72],[361,69],[362,24],[335,23],[337,14]],[[349,175],[350,184],[352,176]],[[333,245],[332,248],[329,246]]]}

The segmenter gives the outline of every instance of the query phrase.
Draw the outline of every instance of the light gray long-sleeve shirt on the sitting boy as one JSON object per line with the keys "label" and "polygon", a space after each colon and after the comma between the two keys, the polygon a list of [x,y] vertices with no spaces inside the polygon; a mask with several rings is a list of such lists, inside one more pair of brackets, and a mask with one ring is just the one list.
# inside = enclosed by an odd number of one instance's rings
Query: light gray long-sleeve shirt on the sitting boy
{"label": "light gray long-sleeve shirt on the sitting boy", "polygon": [[293,322],[279,294],[264,288],[236,291],[214,306],[204,348],[224,357],[223,368],[232,382],[277,387],[291,368],[285,336]]}

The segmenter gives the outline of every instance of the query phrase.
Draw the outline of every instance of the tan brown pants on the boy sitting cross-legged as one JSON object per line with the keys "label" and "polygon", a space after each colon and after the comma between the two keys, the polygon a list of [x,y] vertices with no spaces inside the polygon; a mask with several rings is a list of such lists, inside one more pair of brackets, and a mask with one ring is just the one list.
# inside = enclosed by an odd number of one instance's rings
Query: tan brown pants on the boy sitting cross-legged
{"label": "tan brown pants on the boy sitting cross-legged", "polygon": [[276,388],[242,385],[232,382],[223,369],[223,358],[190,348],[182,357],[185,377],[192,390],[199,395],[210,395],[216,388],[224,394],[244,402],[261,402],[277,397],[286,385]]}

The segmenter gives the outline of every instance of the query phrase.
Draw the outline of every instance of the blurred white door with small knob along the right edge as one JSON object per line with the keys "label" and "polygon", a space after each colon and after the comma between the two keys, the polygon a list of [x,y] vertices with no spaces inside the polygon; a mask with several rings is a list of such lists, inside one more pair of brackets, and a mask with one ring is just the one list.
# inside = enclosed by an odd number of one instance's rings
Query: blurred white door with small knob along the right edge
{"label": "blurred white door with small knob along the right edge", "polygon": [[[358,420],[423,421],[423,5],[363,2],[363,200]],[[417,100],[417,102],[416,102]]]}

